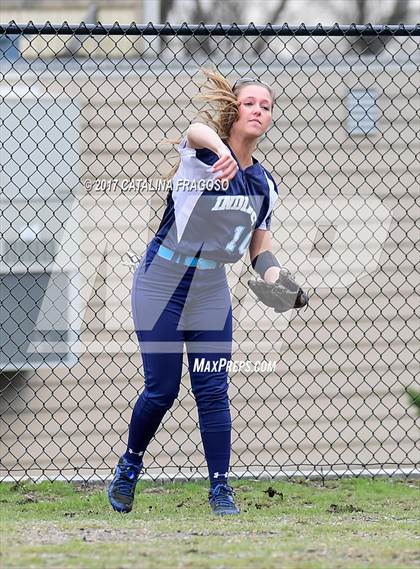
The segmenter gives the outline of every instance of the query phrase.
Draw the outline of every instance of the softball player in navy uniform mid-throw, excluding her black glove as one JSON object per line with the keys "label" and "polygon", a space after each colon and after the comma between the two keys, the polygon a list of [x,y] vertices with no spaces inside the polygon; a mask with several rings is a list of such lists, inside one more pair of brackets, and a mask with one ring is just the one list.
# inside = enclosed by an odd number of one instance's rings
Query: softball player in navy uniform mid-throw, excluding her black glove
{"label": "softball player in navy uniform mid-throw, excluding her black glove", "polygon": [[184,344],[208,465],[209,503],[238,514],[228,485],[231,415],[228,373],[232,309],[225,265],[250,251],[254,270],[276,281],[270,222],[277,187],[252,156],[272,119],[274,94],[255,78],[233,86],[204,70],[201,98],[215,109],[190,125],[178,150],[166,209],[133,279],[132,314],[144,390],[129,427],[127,450],[108,488],[114,510],[129,512],[146,448],[179,391]]}

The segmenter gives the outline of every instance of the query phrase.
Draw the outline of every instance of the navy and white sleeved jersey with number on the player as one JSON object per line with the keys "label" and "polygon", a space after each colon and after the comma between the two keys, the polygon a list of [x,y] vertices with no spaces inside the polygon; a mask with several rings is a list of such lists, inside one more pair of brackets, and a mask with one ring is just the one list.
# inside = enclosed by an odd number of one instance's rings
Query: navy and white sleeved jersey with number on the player
{"label": "navy and white sleeved jersey with number on the player", "polygon": [[184,255],[236,263],[254,229],[270,228],[278,196],[273,177],[253,158],[223,190],[211,171],[217,154],[190,148],[186,138],[178,150],[181,162],[154,240]]}

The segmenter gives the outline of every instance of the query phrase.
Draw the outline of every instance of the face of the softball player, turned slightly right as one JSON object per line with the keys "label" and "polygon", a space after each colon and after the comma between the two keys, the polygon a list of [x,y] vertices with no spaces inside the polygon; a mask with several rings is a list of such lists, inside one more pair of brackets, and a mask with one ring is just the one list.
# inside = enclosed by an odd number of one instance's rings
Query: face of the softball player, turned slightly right
{"label": "face of the softball player, turned slightly right", "polygon": [[232,126],[232,134],[259,138],[271,123],[273,102],[269,91],[261,85],[247,85],[239,91],[238,103],[239,118]]}

